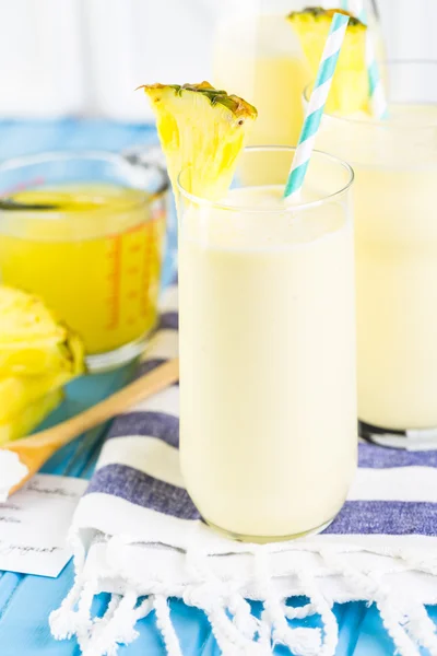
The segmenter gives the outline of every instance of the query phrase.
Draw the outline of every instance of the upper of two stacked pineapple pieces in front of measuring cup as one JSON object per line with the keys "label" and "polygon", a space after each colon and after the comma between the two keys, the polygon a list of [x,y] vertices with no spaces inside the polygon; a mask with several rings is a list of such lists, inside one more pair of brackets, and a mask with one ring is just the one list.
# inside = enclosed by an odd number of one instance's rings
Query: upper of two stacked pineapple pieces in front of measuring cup
{"label": "upper of two stacked pineapple pieces in front of measuring cup", "polygon": [[0,285],[0,377],[84,371],[82,341],[37,296]]}

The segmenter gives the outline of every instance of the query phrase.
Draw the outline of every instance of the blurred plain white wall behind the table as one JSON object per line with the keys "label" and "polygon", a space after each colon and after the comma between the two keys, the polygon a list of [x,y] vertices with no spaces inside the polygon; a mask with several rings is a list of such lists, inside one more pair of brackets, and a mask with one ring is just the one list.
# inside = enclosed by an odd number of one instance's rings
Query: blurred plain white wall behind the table
{"label": "blurred plain white wall behind the table", "polygon": [[[133,90],[208,79],[226,1],[0,0],[0,117],[149,120]],[[389,58],[437,59],[437,0],[379,8]]]}

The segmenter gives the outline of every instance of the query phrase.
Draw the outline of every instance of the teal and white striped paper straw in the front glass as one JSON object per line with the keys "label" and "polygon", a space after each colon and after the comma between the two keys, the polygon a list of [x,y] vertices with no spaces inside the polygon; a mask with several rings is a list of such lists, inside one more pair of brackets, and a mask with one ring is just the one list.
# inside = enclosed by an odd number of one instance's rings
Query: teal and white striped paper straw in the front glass
{"label": "teal and white striped paper straw in the front glass", "polygon": [[324,44],[311,97],[309,98],[307,115],[302,127],[292,168],[285,185],[284,198],[291,199],[297,196],[304,184],[317,131],[331,89],[340,49],[346,34],[347,23],[349,16],[344,14],[334,13],[332,16],[331,28]]}

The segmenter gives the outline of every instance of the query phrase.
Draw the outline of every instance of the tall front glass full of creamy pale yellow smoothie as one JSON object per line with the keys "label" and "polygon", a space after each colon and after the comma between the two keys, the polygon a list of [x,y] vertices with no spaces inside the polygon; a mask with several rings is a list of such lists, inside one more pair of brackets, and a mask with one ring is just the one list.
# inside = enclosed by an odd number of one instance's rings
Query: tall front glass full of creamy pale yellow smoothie
{"label": "tall front glass full of creamy pale yellow smoothie", "polygon": [[179,176],[182,473],[208,523],[259,542],[324,528],[356,467],[353,173],[315,152],[287,207],[293,154],[244,151],[269,185],[237,171],[223,202]]}

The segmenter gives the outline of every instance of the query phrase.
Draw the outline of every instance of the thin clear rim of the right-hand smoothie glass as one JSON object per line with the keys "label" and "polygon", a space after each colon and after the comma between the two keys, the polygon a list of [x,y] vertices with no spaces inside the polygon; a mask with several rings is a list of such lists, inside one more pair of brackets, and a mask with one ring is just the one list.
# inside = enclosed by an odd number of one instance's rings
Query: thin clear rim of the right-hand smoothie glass
{"label": "thin clear rim of the right-hand smoothie glass", "polygon": [[[383,62],[381,62],[382,66],[387,66],[388,68],[390,67],[395,67],[395,66],[402,66],[402,65],[432,65],[437,67],[437,59],[388,59]],[[307,84],[303,91],[302,97],[304,98],[305,103],[309,102],[309,91],[311,89],[312,82],[310,82],[309,84]],[[389,107],[395,107],[395,106],[405,106],[405,105],[415,105],[417,106],[417,104],[423,104],[429,107],[437,107],[437,103],[390,103],[389,102]],[[420,124],[420,125],[411,125],[411,122],[403,122],[403,121],[391,121],[390,117],[387,118],[374,118],[370,115],[371,120],[365,119],[365,118],[353,118],[351,116],[339,116],[335,114],[329,114],[329,113],[323,113],[324,116],[328,116],[331,120],[338,120],[339,122],[342,124],[347,124],[347,125],[354,125],[354,126],[370,126],[371,128],[385,128],[387,129],[401,129],[401,130],[429,130],[433,128],[437,128],[437,119],[435,122],[424,122],[424,124]]]}

